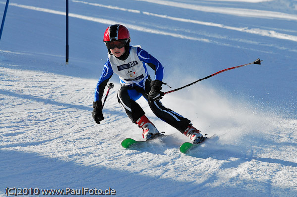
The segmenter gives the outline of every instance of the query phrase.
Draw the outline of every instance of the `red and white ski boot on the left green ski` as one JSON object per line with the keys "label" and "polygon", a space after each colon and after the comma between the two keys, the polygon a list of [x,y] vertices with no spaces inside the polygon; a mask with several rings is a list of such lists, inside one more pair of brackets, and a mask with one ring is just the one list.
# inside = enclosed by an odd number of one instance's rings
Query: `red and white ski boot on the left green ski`
{"label": "red and white ski boot on the left green ski", "polygon": [[152,139],[154,136],[159,135],[158,129],[143,115],[135,122],[140,128],[143,129],[143,138],[145,140]]}

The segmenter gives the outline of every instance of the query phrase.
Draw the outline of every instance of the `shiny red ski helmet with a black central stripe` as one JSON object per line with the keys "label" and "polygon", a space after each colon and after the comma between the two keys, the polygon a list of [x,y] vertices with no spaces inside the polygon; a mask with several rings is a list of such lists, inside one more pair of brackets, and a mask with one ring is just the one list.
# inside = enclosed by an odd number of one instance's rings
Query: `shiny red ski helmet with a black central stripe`
{"label": "shiny red ski helmet with a black central stripe", "polygon": [[130,41],[129,30],[123,25],[111,25],[104,33],[104,42],[116,41],[120,39],[126,39],[126,42]]}

